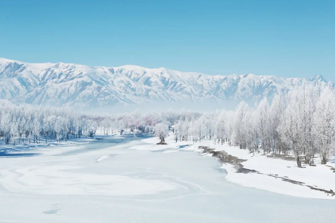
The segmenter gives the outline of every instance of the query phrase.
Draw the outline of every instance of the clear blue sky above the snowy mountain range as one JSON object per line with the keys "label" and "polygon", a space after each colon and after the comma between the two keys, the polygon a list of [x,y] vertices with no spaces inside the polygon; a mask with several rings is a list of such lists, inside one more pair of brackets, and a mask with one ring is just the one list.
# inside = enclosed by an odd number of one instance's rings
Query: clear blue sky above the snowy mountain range
{"label": "clear blue sky above the snowy mountain range", "polygon": [[335,1],[0,0],[0,57],[335,81]]}

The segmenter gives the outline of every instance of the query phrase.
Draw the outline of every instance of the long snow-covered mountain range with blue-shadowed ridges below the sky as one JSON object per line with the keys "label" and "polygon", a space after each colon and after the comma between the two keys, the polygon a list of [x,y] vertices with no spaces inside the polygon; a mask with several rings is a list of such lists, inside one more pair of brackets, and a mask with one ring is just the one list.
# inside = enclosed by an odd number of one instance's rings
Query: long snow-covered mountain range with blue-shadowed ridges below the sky
{"label": "long snow-covered mountain range with blue-shadowed ridges below the sky", "polygon": [[133,65],[30,64],[0,58],[0,99],[14,103],[106,107],[150,101],[260,99],[303,82],[326,83],[320,75],[311,79],[210,76]]}

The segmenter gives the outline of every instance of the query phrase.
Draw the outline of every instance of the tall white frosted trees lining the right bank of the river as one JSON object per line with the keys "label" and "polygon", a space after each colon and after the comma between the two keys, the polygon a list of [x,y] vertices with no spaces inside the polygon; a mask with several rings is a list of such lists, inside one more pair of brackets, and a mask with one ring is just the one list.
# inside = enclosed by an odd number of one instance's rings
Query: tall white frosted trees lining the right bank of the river
{"label": "tall white frosted trees lining the right bank of the river", "polygon": [[201,141],[249,149],[250,152],[293,154],[297,166],[312,165],[318,154],[325,164],[334,149],[335,93],[329,87],[296,87],[254,107],[242,102],[235,111],[219,110],[175,122],[177,140]]}

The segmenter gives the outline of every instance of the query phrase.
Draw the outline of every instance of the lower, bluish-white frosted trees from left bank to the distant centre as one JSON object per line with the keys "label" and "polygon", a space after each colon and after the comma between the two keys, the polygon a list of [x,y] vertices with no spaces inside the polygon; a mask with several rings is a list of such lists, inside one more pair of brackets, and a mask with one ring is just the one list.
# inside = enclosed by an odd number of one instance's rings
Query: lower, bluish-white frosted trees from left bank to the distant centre
{"label": "lower, bluish-white frosted trees from left bank to the distant centre", "polygon": [[[0,138],[13,145],[18,143],[48,143],[100,134],[122,134],[125,129],[153,132],[157,123],[168,128],[179,118],[197,117],[196,113],[139,111],[120,116],[94,116],[73,112],[70,108],[44,108],[41,106],[0,103]],[[167,121],[169,120],[169,121]]]}

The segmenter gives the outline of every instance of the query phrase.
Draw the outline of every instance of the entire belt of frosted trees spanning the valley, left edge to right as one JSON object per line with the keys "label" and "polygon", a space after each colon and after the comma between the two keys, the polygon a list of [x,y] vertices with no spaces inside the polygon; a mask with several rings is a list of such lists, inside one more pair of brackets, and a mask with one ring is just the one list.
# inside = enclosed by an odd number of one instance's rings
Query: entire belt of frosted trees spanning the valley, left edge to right
{"label": "entire belt of frosted trees spanning the valley, left edge to right", "polygon": [[[159,123],[164,127],[154,128]],[[122,134],[125,129],[157,132],[170,128],[176,141],[201,142],[207,138],[252,153],[293,154],[298,166],[302,160],[312,165],[318,155],[325,164],[334,149],[335,93],[329,87],[307,85],[277,94],[271,103],[262,100],[250,107],[242,102],[235,111],[134,111],[105,117],[76,114],[69,108],[0,104],[0,137],[13,144],[42,140],[47,143],[48,139],[60,142],[90,137],[98,130],[100,134]],[[165,137],[160,138],[164,141]]]}

